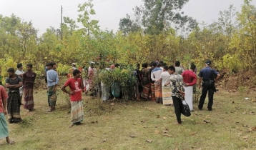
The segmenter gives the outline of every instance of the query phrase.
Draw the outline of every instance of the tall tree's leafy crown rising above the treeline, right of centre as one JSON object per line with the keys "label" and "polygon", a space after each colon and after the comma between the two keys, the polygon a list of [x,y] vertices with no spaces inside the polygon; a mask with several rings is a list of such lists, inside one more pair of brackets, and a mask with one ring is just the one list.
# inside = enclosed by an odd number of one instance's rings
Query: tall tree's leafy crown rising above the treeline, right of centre
{"label": "tall tree's leafy crown rising above the treeline, right of centre", "polygon": [[194,29],[195,19],[179,12],[189,0],[144,0],[142,24],[147,34],[160,34],[164,29]]}

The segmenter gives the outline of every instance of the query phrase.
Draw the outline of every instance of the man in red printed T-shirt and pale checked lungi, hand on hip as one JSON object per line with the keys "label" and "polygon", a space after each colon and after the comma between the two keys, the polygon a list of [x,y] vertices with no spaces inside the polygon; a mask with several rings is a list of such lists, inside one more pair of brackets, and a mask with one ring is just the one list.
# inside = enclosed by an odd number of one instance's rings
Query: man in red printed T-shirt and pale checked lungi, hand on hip
{"label": "man in red printed T-shirt and pale checked lungi, hand on hip", "polygon": [[[69,86],[70,91],[67,91],[67,86]],[[74,124],[81,124],[81,121],[84,119],[84,107],[82,101],[84,84],[82,82],[81,72],[78,69],[73,71],[73,78],[68,79],[61,90],[70,95],[72,124],[70,124],[69,127],[74,126]]]}

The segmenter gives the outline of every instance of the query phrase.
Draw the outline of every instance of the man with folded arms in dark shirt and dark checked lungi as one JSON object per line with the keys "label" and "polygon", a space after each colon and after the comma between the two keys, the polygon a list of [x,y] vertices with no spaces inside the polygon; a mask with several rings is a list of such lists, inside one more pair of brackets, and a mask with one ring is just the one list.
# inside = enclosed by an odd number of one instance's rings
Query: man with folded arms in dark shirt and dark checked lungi
{"label": "man with folded arms in dark shirt and dark checked lungi", "polygon": [[14,74],[14,69],[9,68],[7,70],[9,77],[5,79],[6,88],[8,91],[8,99],[7,99],[7,111],[8,111],[8,119],[9,123],[16,123],[22,121],[20,112],[20,96],[19,96],[19,88],[22,86],[22,79],[18,75]]}

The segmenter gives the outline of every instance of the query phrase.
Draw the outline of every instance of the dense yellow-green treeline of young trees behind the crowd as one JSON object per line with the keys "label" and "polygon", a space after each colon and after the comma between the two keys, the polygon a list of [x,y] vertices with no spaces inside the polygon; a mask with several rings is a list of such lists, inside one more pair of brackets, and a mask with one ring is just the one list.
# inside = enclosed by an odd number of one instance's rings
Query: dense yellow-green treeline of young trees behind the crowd
{"label": "dense yellow-green treeline of young trees behind the crowd", "polygon": [[[145,6],[149,7],[149,2],[145,1]],[[177,8],[182,6],[177,5]],[[136,8],[135,13],[149,15],[142,15],[145,26],[136,27],[131,20],[124,26],[121,23],[127,20],[121,19],[120,31],[114,33],[100,30],[99,21],[90,19],[95,14],[92,1],[79,5],[78,21],[83,27],[78,29],[76,21],[64,17],[62,40],[60,29],[50,27],[39,37],[32,22],[23,21],[14,14],[0,15],[1,75],[6,76],[6,69],[10,66],[16,68],[19,62],[34,64],[36,73],[43,74],[44,64],[48,61],[58,63],[59,73],[68,71],[72,62],[84,66],[89,61],[136,64],[155,59],[169,64],[178,59],[186,68],[191,61],[200,68],[205,59],[211,59],[217,69],[233,72],[256,70],[256,8],[249,0],[244,1],[240,12],[235,12],[232,6],[220,12],[220,19],[210,25],[200,26],[187,16],[174,15],[176,19],[166,17],[169,22],[182,18],[177,21],[182,25],[190,22],[187,28],[179,28],[180,24],[178,28],[166,24],[155,28],[154,15],[149,13],[152,10]],[[135,29],[127,28],[129,25],[135,26]],[[177,34],[179,29],[189,29],[186,30],[189,34]]]}

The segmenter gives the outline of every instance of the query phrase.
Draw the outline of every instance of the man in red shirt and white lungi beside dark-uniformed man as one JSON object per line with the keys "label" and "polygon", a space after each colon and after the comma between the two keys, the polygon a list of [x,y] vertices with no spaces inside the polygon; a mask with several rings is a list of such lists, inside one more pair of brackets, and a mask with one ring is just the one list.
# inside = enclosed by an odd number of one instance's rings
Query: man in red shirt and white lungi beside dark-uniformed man
{"label": "man in red shirt and white lungi beside dark-uniformed man", "polygon": [[191,64],[190,69],[182,73],[184,89],[185,89],[185,100],[189,105],[190,111],[193,110],[193,85],[197,84],[197,75],[195,74],[195,64]]}

